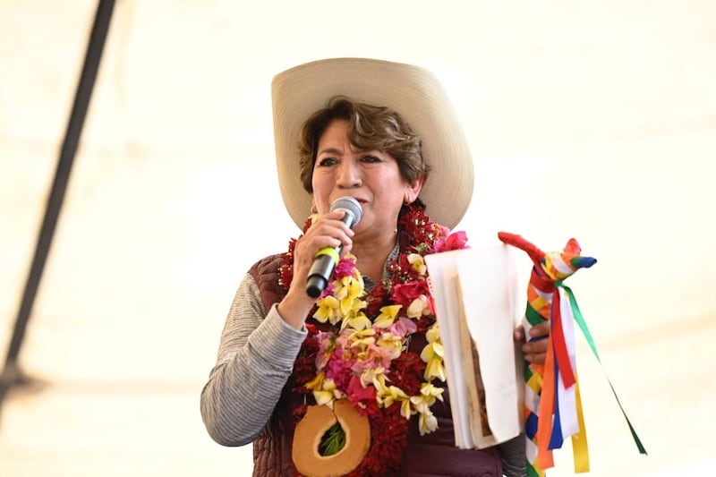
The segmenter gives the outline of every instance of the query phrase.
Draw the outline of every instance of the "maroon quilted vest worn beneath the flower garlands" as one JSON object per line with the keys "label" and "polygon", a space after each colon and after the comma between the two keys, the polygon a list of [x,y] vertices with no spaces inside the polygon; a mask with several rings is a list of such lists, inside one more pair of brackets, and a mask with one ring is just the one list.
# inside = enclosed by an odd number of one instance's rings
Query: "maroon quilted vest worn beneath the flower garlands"
{"label": "maroon quilted vest worn beneath the flower garlands", "polygon": [[[267,311],[271,305],[279,302],[286,294],[286,290],[278,285],[278,267],[282,260],[283,255],[272,255],[255,263],[249,271],[259,285],[261,301]],[[420,353],[425,343],[424,336],[414,336],[411,340],[411,351]],[[255,477],[288,477],[296,474],[291,458],[295,425],[292,411],[303,404],[303,396],[292,396],[291,388],[292,382],[289,379],[270,421],[253,442],[253,475]],[[431,408],[438,418],[438,430],[421,436],[417,420],[411,420],[408,445],[403,454],[403,464],[394,475],[406,477],[501,476],[502,464],[497,447],[483,450],[465,450],[455,447],[455,433],[447,388],[443,397],[444,402],[438,401]]]}

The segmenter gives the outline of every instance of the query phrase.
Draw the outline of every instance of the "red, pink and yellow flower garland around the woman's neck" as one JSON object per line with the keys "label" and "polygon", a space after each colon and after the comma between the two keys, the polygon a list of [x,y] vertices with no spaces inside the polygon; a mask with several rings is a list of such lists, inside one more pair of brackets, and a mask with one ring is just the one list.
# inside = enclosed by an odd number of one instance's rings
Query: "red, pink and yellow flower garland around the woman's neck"
{"label": "red, pink and yellow flower garland around the woman's neck", "polygon": [[[306,222],[303,232],[311,226]],[[371,423],[371,448],[350,475],[385,474],[397,469],[407,445],[411,416],[421,435],[438,428],[430,407],[442,401],[445,381],[443,345],[431,305],[423,256],[466,247],[464,232],[450,234],[430,221],[418,205],[398,219],[401,243],[396,260],[388,260],[391,278],[366,294],[355,257],[346,254],[321,295],[308,336],[294,363],[293,391],[312,395],[317,405],[347,399]],[[295,239],[280,269],[281,285],[293,278]],[[408,350],[413,334],[424,334],[420,354]],[[296,410],[303,417],[306,406]]]}

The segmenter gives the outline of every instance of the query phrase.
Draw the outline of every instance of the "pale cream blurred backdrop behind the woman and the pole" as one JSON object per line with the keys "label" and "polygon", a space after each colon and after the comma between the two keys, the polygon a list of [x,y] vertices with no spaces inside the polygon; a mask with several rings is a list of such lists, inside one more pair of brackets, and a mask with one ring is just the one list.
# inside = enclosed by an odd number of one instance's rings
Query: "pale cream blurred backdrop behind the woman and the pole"
{"label": "pale cream blurred backdrop behind the woman and the pole", "polygon": [[[0,0],[3,356],[94,11]],[[46,385],[6,401],[0,473],[251,472],[250,447],[209,439],[199,395],[244,271],[297,233],[269,83],[351,55],[445,82],[475,160],[473,243],[575,235],[598,258],[570,279],[603,363],[581,340],[592,475],[712,473],[714,25],[708,0],[118,2],[21,353]],[[568,447],[557,460],[571,475]]]}

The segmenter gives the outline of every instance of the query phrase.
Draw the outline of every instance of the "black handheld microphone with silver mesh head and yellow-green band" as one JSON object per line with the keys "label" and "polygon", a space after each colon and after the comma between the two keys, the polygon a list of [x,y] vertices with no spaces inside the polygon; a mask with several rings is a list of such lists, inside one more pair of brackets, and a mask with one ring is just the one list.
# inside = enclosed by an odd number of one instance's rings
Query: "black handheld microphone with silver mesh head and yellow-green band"
{"label": "black handheld microphone with silver mesh head and yellow-green band", "polygon": [[[330,211],[343,209],[345,215],[341,221],[351,228],[361,221],[362,209],[358,200],[353,197],[339,197],[330,205]],[[308,272],[308,280],[306,281],[306,294],[311,298],[318,298],[328,285],[328,280],[333,274],[334,268],[340,260],[343,245],[337,247],[323,247],[313,258],[313,265]]]}

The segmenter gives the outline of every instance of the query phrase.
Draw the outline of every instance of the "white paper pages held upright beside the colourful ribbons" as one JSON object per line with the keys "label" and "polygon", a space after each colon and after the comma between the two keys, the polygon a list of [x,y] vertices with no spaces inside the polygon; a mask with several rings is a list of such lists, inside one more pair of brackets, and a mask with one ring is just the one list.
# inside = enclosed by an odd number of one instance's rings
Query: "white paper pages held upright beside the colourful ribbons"
{"label": "white paper pages held upright beside the colourful ribbons", "polygon": [[484,448],[516,437],[524,423],[512,251],[500,243],[435,253],[425,262],[445,348],[456,447]]}

